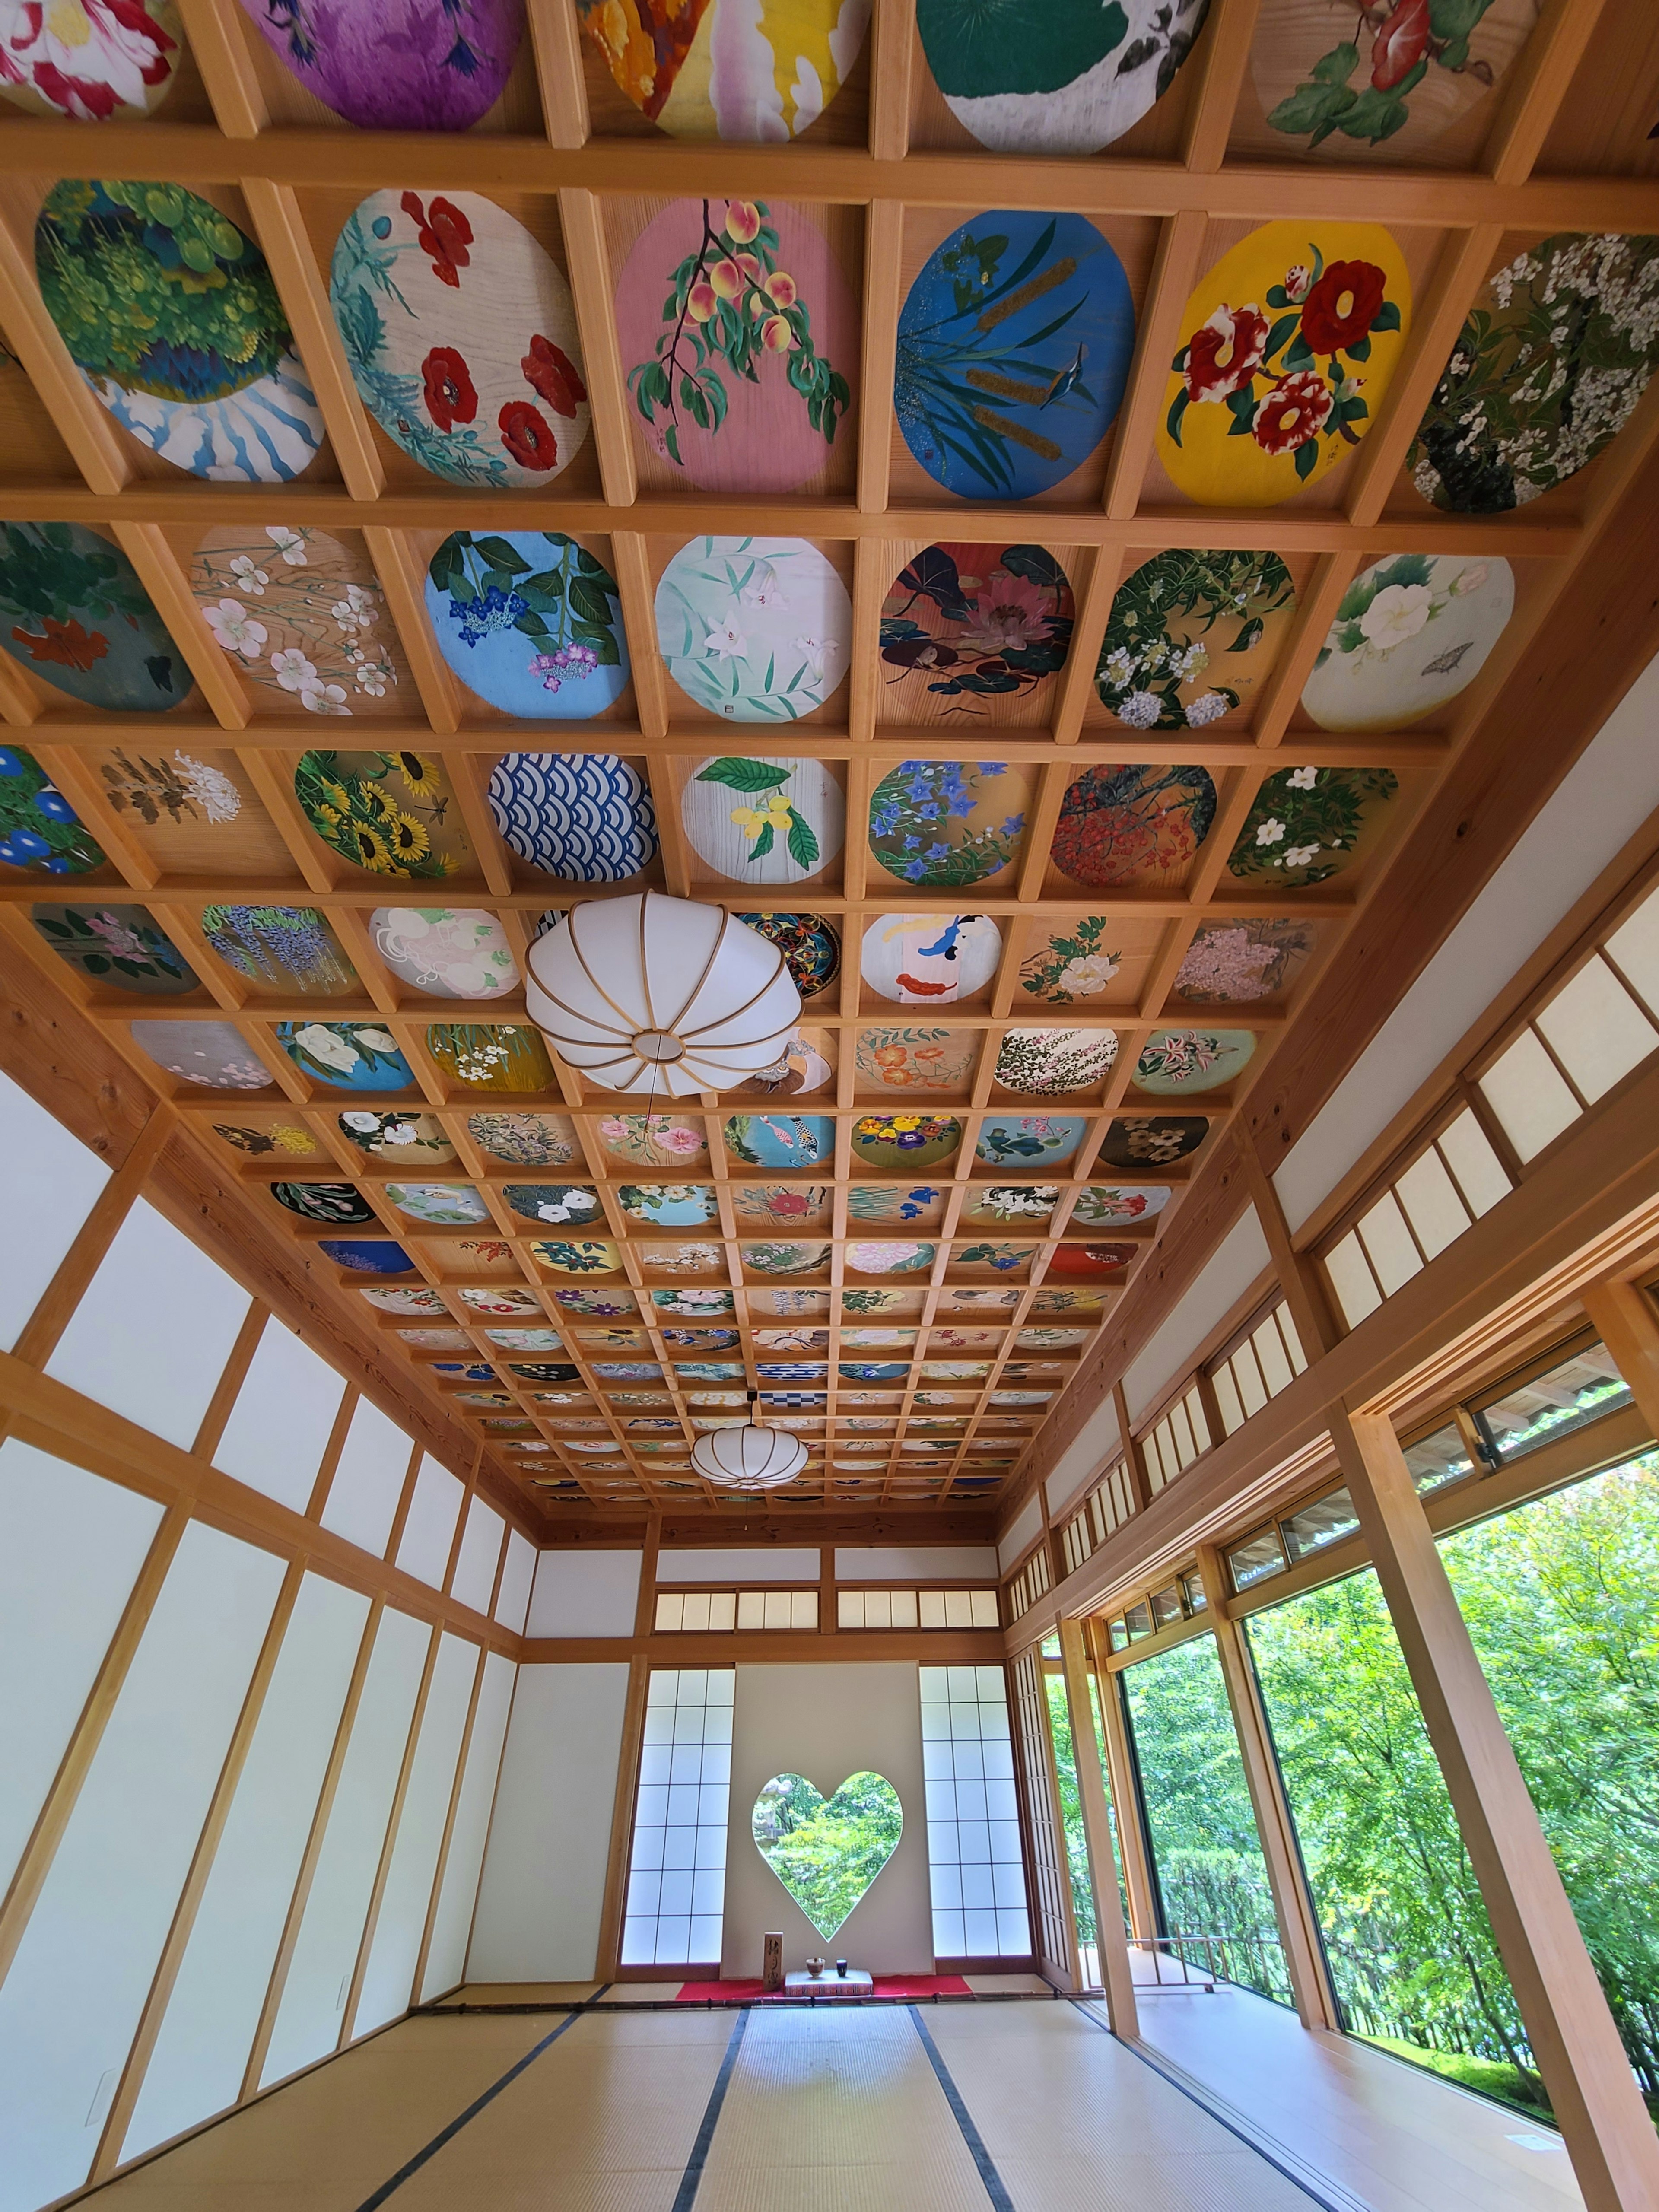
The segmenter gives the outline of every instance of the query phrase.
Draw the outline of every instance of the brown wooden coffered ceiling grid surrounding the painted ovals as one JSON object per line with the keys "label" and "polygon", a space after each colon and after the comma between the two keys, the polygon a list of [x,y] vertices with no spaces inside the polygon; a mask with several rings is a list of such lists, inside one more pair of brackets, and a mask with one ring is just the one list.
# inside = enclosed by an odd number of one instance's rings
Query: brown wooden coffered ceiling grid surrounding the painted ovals
{"label": "brown wooden coffered ceiling grid surrounding the painted ovals", "polygon": [[[13,1064],[40,1082],[51,1060],[42,1035],[58,1022],[62,1035],[80,1040],[75,1064],[88,1082],[95,1068],[119,1068],[124,1093],[142,1086],[166,1099],[177,1121],[168,1166],[179,1192],[192,1179],[212,1192],[210,1234],[239,1243],[243,1263],[257,1248],[259,1267],[285,1267],[307,1312],[336,1332],[347,1363],[369,1345],[376,1376],[403,1396],[422,1433],[447,1438],[451,1455],[482,1444],[498,1480],[533,1498],[553,1533],[637,1524],[650,1511],[672,1515],[677,1528],[759,1520],[836,1531],[991,1526],[1031,1469],[1051,1458],[1055,1431],[1044,1436],[1044,1425],[1057,1416],[1066,1431],[1077,1425],[1079,1407],[1066,1396],[1073,1378],[1082,1374],[1082,1389],[1097,1389],[1106,1345],[1135,1343],[1141,1310],[1150,1316],[1168,1303],[1164,1254],[1177,1239],[1177,1272],[1190,1272],[1201,1221],[1239,1159],[1241,1128],[1248,1124],[1245,1141],[1259,1146],[1256,1108],[1283,1097],[1276,1071],[1298,1071],[1294,1110],[1305,1119],[1307,1099],[1329,1091],[1473,883],[1593,734],[1582,703],[1599,697],[1613,666],[1593,615],[1597,591],[1637,588],[1630,544],[1637,513],[1650,513],[1655,392],[1599,458],[1513,513],[1442,513],[1413,489],[1405,462],[1489,270],[1559,230],[1659,232],[1659,164],[1648,139],[1659,115],[1659,51],[1648,11],[1635,0],[1546,4],[1480,108],[1480,133],[1464,135],[1451,166],[1436,168],[1391,166],[1387,148],[1378,157],[1358,144],[1340,164],[1298,166],[1283,148],[1263,159],[1261,128],[1248,124],[1256,18],[1250,0],[1214,0],[1170,93],[1093,159],[991,155],[964,144],[931,86],[911,13],[885,0],[867,66],[792,146],[661,137],[617,95],[562,0],[535,0],[533,46],[507,102],[465,135],[341,126],[272,71],[228,0],[186,0],[195,75],[177,119],[164,108],[157,122],[95,133],[71,122],[0,122],[0,325],[15,356],[0,372],[0,509],[18,522],[80,522],[111,535],[192,677],[166,717],[122,717],[77,708],[27,666],[0,661],[0,714],[13,741],[51,774],[108,856],[104,869],[73,878],[0,869],[0,942],[13,1000],[27,1013],[18,1035],[29,1031]],[[186,184],[259,239],[325,425],[323,451],[294,482],[197,482],[137,445],[86,389],[35,288],[31,230],[49,186],[88,173]],[[387,186],[493,197],[564,270],[593,436],[546,491],[480,493],[425,476],[361,407],[327,312],[327,265],[354,201]],[[807,210],[858,301],[860,409],[801,493],[701,493],[635,438],[613,294],[644,223],[677,197],[703,195]],[[1057,487],[1022,502],[940,491],[889,407],[909,283],[956,223],[987,208],[1084,212],[1121,259],[1135,307],[1133,367],[1104,442]],[[1254,223],[1287,217],[1387,226],[1411,274],[1409,336],[1369,438],[1329,476],[1290,504],[1190,504],[1155,451],[1168,365],[1186,336],[1183,305]],[[210,529],[259,533],[272,524],[327,531],[372,562],[409,670],[396,712],[365,714],[349,732],[341,723],[323,730],[248,681],[221,650],[190,588],[192,553]],[[630,681],[604,714],[520,721],[458,684],[422,597],[425,566],[451,529],[564,531],[611,571]],[[653,591],[699,533],[805,538],[847,586],[845,684],[799,723],[734,730],[668,675]],[[1048,549],[1064,571],[1075,630],[1064,668],[1042,690],[991,697],[982,714],[956,721],[925,688],[896,688],[896,664],[880,657],[883,602],[905,562],[931,542]],[[1095,688],[1102,639],[1126,580],[1170,549],[1272,551],[1296,606],[1276,661],[1239,710],[1192,730],[1126,728]],[[1303,710],[1303,686],[1354,577],[1402,553],[1506,560],[1515,615],[1475,681],[1438,712],[1402,730],[1332,734]],[[1568,615],[1573,635],[1564,639]],[[1628,637],[1619,650],[1628,655]],[[1517,737],[1520,701],[1531,701],[1535,717],[1557,717],[1553,750],[1540,721]],[[732,911],[818,916],[841,945],[838,973],[803,1015],[827,1066],[821,1088],[750,1086],[684,1102],[679,1119],[703,1146],[641,1152],[608,1128],[641,1102],[595,1093],[564,1066],[522,1091],[465,1082],[453,1057],[434,1053],[429,1024],[524,1031],[522,989],[489,1002],[447,1000],[387,964],[376,909],[436,894],[358,869],[312,832],[292,776],[323,739],[436,763],[460,825],[460,865],[442,898],[495,916],[520,967],[544,914],[641,885]],[[732,754],[734,739],[739,752],[823,763],[845,803],[845,843],[796,885],[763,891],[723,878],[686,834],[688,781],[710,754]],[[106,768],[115,754],[155,759],[159,745],[206,757],[239,783],[241,816],[215,849],[221,858],[204,858],[201,841],[168,845],[166,832],[153,834],[131,807],[111,803]],[[573,883],[531,867],[504,841],[489,807],[491,774],[504,754],[538,748],[622,757],[641,776],[661,830],[644,876]],[[911,887],[880,865],[867,834],[872,794],[914,761],[991,763],[1022,794],[1011,807],[1022,816],[1015,852],[982,889]],[[1091,770],[1126,765],[1203,770],[1214,785],[1214,825],[1168,880],[1088,889],[1053,858],[1062,803]],[[1239,841],[1248,843],[1261,821],[1261,785],[1287,768],[1387,772],[1398,785],[1356,845],[1354,865],[1290,891],[1230,869]],[[1444,867],[1440,878],[1433,869],[1425,876],[1425,856],[1447,847],[1449,816],[1462,818],[1471,794],[1495,790],[1502,803],[1478,810],[1467,883],[1449,889]],[[146,907],[199,987],[139,998],[64,964],[31,909],[49,916],[88,902]],[[1000,933],[980,989],[942,1004],[896,1004],[872,989],[860,967],[872,925],[894,914],[947,925],[964,902]],[[347,962],[345,984],[307,993],[239,971],[204,927],[204,909],[217,907],[325,916]],[[1075,938],[1079,918],[1102,920],[1097,942],[1117,956],[1117,973],[1095,995],[1044,998],[1031,987],[1044,949]],[[1283,991],[1223,1006],[1179,995],[1177,978],[1201,931],[1267,920],[1305,925],[1303,958]],[[1396,942],[1409,951],[1391,962]],[[232,1093],[168,1075],[135,1040],[135,1020],[232,1024],[270,1082]],[[385,1031],[411,1086],[349,1095],[327,1086],[314,1064],[296,1064],[276,1042],[276,1024],[312,1022]],[[918,1066],[927,1073],[914,1051],[918,1026],[949,1033],[942,1060],[933,1060],[953,1068],[940,1086],[916,1079]],[[1020,1091],[998,1079],[1000,1068],[1011,1073],[1000,1057],[1011,1029],[1079,1031],[1084,1044],[1110,1031],[1117,1051],[1082,1088]],[[1152,1095],[1137,1084],[1137,1068],[1148,1040],[1166,1029],[1243,1033],[1254,1051],[1219,1088]],[[909,1086],[891,1084],[894,1066],[909,1071]],[[117,1084],[113,1073],[108,1084]],[[416,1168],[387,1146],[367,1152],[343,1113],[420,1113],[434,1148]],[[515,1164],[489,1148],[489,1121],[478,1115],[553,1115],[564,1157]],[[728,1146],[732,1115],[823,1117],[830,1135],[807,1166],[779,1168]],[[872,1164],[854,1152],[854,1126],[883,1115],[958,1121],[960,1144],[916,1172]],[[1144,1137],[1128,1150],[1121,1121],[1159,1115],[1208,1124],[1203,1144],[1179,1159],[1159,1159]],[[1082,1124],[1079,1141],[1046,1164],[998,1155],[989,1130],[1033,1117]],[[250,1150],[248,1137],[226,1141],[226,1126],[252,1130],[259,1148]],[[1115,1164],[1099,1164],[1102,1146],[1115,1148]],[[392,1197],[389,1186],[405,1181],[471,1186],[480,1219],[416,1219]],[[535,1221],[513,1192],[553,1181],[593,1190],[595,1210],[580,1221]],[[276,1183],[341,1186],[347,1210],[365,1219],[303,1219],[276,1203]],[[653,1183],[706,1186],[712,1217],[690,1228],[653,1225],[639,1201],[624,1201],[624,1190]],[[1126,1186],[1168,1199],[1161,1210],[1148,1201],[1141,1219],[1099,1225],[1108,1214],[1084,1192]],[[1022,1201],[1002,1201],[998,1219],[987,1201],[993,1188],[1053,1190],[1055,1201],[1029,1212],[1018,1210]],[[768,1190],[790,1197],[768,1206]],[[920,1190],[927,1197],[905,1214],[907,1194]],[[1197,1210],[1194,1194],[1203,1201]],[[411,1272],[378,1279],[338,1265],[323,1250],[336,1239],[396,1241]],[[549,1239],[599,1241],[619,1263],[557,1272],[535,1252]],[[686,1272],[672,1256],[681,1243],[712,1248],[706,1272]],[[827,1256],[779,1274],[765,1252],[781,1243]],[[872,1259],[869,1243],[925,1250],[914,1272],[885,1274],[860,1265]],[[1091,1250],[1108,1256],[1086,1259]],[[392,1310],[380,1298],[411,1287],[427,1296],[400,1303],[427,1312]],[[688,1292],[719,1296],[703,1298],[699,1314]],[[515,1329],[533,1334],[504,1343],[500,1332]],[[803,1478],[763,1509],[719,1498],[688,1467],[699,1422],[732,1418],[750,1389],[812,1447]]]}

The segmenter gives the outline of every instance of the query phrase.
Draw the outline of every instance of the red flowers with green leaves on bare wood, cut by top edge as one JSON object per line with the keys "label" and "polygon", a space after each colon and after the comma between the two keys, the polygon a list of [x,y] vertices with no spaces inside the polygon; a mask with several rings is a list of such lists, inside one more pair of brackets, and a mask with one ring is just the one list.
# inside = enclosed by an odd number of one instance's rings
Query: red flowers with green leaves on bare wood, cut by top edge
{"label": "red flowers with green leaves on bare wood, cut by top edge", "polygon": [[1327,0],[1263,0],[1250,77],[1283,153],[1420,161],[1486,102],[1537,22],[1537,0],[1429,0],[1338,13]]}

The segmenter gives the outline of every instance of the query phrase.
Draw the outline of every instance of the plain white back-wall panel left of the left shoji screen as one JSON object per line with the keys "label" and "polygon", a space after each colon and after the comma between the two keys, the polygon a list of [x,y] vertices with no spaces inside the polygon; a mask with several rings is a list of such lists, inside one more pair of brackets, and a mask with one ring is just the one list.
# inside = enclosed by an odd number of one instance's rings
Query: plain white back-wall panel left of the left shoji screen
{"label": "plain white back-wall panel left of the left shoji screen", "polygon": [[622,1661],[518,1670],[469,1982],[584,1982],[593,1973],[626,1701]]}

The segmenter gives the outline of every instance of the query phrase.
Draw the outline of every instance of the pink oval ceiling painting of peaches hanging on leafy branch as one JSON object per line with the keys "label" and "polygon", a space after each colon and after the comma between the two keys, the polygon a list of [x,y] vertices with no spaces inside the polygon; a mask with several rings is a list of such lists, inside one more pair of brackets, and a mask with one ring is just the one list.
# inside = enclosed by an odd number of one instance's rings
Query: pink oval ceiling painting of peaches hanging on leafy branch
{"label": "pink oval ceiling painting of peaches hanging on leafy branch", "polygon": [[847,431],[858,310],[799,208],[675,199],[617,279],[635,436],[703,491],[799,491]]}

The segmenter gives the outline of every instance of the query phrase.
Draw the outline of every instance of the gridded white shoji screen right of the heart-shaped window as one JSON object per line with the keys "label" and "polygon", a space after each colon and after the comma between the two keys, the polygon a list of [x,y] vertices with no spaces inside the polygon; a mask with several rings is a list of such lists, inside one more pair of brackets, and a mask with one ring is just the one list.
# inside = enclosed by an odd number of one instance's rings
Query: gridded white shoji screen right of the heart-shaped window
{"label": "gridded white shoji screen right of the heart-shaped window", "polygon": [[1029,1958],[1026,1871],[1000,1666],[918,1668],[936,1958]]}

